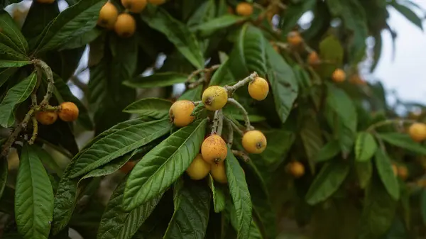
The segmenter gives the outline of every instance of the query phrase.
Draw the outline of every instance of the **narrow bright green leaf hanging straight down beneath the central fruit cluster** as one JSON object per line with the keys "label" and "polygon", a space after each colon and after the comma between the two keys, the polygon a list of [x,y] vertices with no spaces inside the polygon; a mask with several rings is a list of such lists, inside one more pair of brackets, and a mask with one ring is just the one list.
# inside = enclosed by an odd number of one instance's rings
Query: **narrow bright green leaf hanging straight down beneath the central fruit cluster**
{"label": "narrow bright green leaf hanging straight down beneath the central fruit cluster", "polygon": [[243,169],[229,148],[228,155],[225,160],[225,169],[226,177],[228,179],[229,193],[231,194],[236,212],[237,238],[248,239],[250,237],[252,215],[249,187],[247,186]]}

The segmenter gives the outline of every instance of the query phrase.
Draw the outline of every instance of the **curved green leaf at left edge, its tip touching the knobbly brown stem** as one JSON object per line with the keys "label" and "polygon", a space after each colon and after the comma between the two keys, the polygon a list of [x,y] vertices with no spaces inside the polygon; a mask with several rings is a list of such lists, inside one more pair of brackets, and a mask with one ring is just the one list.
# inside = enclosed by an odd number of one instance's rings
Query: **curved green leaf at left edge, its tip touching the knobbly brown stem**
{"label": "curved green leaf at left edge, its tip touching the knobbly brown stem", "polygon": [[19,82],[7,91],[6,96],[4,96],[0,104],[0,126],[9,128],[13,125],[15,122],[13,110],[16,105],[25,101],[30,96],[36,82],[37,75],[33,72],[26,79],[23,79],[22,82]]}

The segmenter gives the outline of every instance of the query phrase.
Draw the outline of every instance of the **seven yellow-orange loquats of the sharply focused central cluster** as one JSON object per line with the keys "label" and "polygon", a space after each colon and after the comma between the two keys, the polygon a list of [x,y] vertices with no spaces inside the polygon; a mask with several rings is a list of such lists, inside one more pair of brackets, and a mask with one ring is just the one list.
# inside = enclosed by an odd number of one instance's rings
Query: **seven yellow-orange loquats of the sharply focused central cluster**
{"label": "seven yellow-orange loquats of the sharply focused central cluster", "polygon": [[[248,91],[250,96],[257,101],[266,99],[269,92],[268,82],[261,77],[255,77],[249,82]],[[225,87],[211,86],[202,93],[202,104],[208,111],[219,111],[226,105],[230,95],[231,92]],[[170,121],[177,127],[187,126],[195,120],[195,116],[192,116],[194,109],[195,103],[192,101],[175,101],[170,107]],[[266,148],[266,137],[261,131],[252,128],[244,132],[242,145],[246,152],[260,154]],[[190,178],[200,180],[210,173],[215,181],[222,184],[228,182],[224,165],[228,148],[222,136],[217,133],[207,135],[200,151],[201,153],[186,169]]]}

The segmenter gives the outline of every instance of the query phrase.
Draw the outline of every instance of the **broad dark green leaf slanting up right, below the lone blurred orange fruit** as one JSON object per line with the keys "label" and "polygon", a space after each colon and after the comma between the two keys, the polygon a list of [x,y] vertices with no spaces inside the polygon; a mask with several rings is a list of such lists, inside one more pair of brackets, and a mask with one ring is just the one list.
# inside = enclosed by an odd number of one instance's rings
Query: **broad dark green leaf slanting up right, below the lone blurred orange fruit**
{"label": "broad dark green leaf slanting up right, below the lone blurred orange fruit", "polygon": [[348,174],[349,165],[346,162],[327,162],[307,191],[307,203],[315,205],[328,199],[339,189]]}

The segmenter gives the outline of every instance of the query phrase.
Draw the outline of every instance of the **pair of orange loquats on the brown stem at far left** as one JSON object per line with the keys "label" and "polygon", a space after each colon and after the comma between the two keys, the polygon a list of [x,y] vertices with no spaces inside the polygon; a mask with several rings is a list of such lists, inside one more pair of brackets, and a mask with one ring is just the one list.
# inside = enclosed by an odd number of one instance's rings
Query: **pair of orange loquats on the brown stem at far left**
{"label": "pair of orange loquats on the brown stem at far left", "polygon": [[59,118],[65,122],[76,121],[78,118],[78,107],[72,102],[63,102],[56,107],[47,107],[45,111],[37,111],[35,118],[42,125],[48,126]]}

